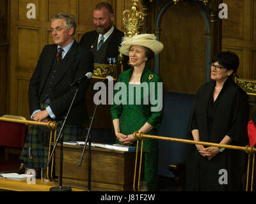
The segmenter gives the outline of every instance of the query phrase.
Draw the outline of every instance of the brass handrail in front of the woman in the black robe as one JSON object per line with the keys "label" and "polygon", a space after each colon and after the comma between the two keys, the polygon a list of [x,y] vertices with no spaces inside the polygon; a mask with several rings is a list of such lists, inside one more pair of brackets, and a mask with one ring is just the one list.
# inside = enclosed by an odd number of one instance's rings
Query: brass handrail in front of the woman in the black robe
{"label": "brass handrail in front of the woman in the black robe", "polygon": [[[146,135],[144,133],[139,133],[138,131],[133,133],[134,138],[137,139],[137,148],[136,148],[136,159],[135,163],[137,163],[137,156],[138,156],[138,143],[139,140],[141,140],[141,154],[143,152],[143,146],[142,146],[142,141],[143,138],[149,138],[149,139],[154,139],[154,140],[166,140],[166,141],[172,141],[172,142],[182,142],[182,143],[190,143],[190,144],[195,144],[195,145],[206,145],[206,146],[212,146],[212,147],[223,147],[227,149],[236,149],[236,150],[242,150],[249,154],[248,156],[248,168],[247,168],[247,179],[246,179],[246,191],[248,191],[248,178],[249,178],[249,166],[250,166],[250,154],[253,154],[253,164],[252,164],[252,179],[251,179],[251,191],[253,189],[253,173],[254,173],[254,160],[255,160],[255,152],[256,152],[256,147],[250,147],[249,145],[246,145],[245,147],[241,146],[236,146],[236,145],[222,145],[220,143],[212,143],[212,142],[196,142],[194,140],[185,140],[185,139],[179,139],[179,138],[170,138],[166,136],[156,136],[156,135]],[[135,189],[135,180],[136,180],[136,164],[135,164],[135,169],[134,169],[134,191]],[[141,159],[140,159],[140,170],[141,170]],[[140,171],[139,171],[140,173]],[[138,191],[140,191],[140,175],[138,177]]]}

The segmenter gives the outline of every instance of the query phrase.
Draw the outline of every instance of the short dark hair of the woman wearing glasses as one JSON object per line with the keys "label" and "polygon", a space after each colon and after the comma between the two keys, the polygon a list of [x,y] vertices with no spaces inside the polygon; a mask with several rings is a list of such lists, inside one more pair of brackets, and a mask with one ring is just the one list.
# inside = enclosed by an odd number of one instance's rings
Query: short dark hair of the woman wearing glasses
{"label": "short dark hair of the woman wearing glasses", "polygon": [[239,66],[239,57],[230,51],[220,52],[220,54],[216,55],[212,59],[212,63],[219,62],[220,66],[224,66],[225,68],[233,69],[233,75],[236,73],[237,68]]}

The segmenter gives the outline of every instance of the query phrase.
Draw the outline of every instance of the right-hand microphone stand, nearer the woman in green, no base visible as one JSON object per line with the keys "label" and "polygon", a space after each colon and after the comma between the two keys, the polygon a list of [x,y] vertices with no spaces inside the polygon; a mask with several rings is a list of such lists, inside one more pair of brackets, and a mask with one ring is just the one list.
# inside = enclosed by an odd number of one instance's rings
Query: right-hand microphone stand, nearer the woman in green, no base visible
{"label": "right-hand microphone stand, nearer the woman in green, no base visible", "polygon": [[88,191],[91,191],[91,170],[92,170],[92,154],[91,154],[92,135],[91,135],[91,130],[92,130],[92,124],[93,124],[93,120],[94,120],[94,117],[95,117],[95,113],[96,113],[96,110],[97,110],[98,103],[99,103],[99,98],[97,100],[97,104],[96,104],[94,112],[93,112],[92,120],[91,120],[91,123],[90,123],[90,127],[88,129],[88,133],[87,133],[85,144],[84,144],[83,153],[80,157],[80,161],[79,161],[79,164],[78,164],[78,166],[82,165],[84,152],[85,152],[85,149],[86,149],[86,144],[89,141],[89,144],[88,144]]}

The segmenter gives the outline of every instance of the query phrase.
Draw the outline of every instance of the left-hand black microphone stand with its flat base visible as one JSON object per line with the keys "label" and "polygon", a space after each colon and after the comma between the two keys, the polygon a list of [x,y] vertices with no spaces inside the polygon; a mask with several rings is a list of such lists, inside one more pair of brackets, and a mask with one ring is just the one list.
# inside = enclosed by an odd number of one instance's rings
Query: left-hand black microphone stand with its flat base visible
{"label": "left-hand black microphone stand with its flat base visible", "polygon": [[49,157],[49,159],[47,161],[47,164],[46,164],[47,166],[49,166],[49,164],[51,162],[51,159],[52,159],[52,155],[55,152],[57,143],[60,140],[60,183],[59,183],[58,187],[51,187],[50,191],[72,191],[71,187],[62,186],[62,173],[63,173],[63,133],[62,133],[62,131],[63,131],[63,128],[64,128],[64,126],[66,124],[66,120],[67,120],[68,114],[70,112],[70,109],[71,109],[71,107],[72,107],[72,105],[74,103],[74,100],[76,99],[76,95],[77,95],[77,92],[79,90],[79,85],[80,85],[80,82],[77,82],[76,92],[74,94],[74,97],[72,99],[70,107],[68,108],[67,115],[64,117],[64,121],[63,121],[63,124],[61,126],[60,133],[58,134],[58,137],[57,137],[56,142],[54,144],[54,147],[52,149],[51,156]]}

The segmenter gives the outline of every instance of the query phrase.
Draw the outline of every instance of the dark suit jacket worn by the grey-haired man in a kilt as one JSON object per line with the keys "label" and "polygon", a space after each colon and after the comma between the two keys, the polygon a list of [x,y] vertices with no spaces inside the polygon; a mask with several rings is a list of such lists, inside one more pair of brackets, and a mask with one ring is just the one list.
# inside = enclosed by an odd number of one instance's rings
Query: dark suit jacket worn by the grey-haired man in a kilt
{"label": "dark suit jacket worn by the grey-haired man in a kilt", "polygon": [[[51,71],[52,61],[56,61],[57,45],[46,45],[38,59],[35,71],[29,83],[29,111],[33,113],[40,107],[40,94],[42,94],[45,82]],[[83,77],[88,72],[93,73],[93,55],[74,41],[72,47],[65,55],[60,65],[53,86],[51,109],[56,120],[61,120],[67,114],[72,102],[76,87],[70,84],[77,78]],[[81,124],[88,121],[86,108],[86,91],[90,81],[81,83],[76,100],[67,118],[67,124]]]}

